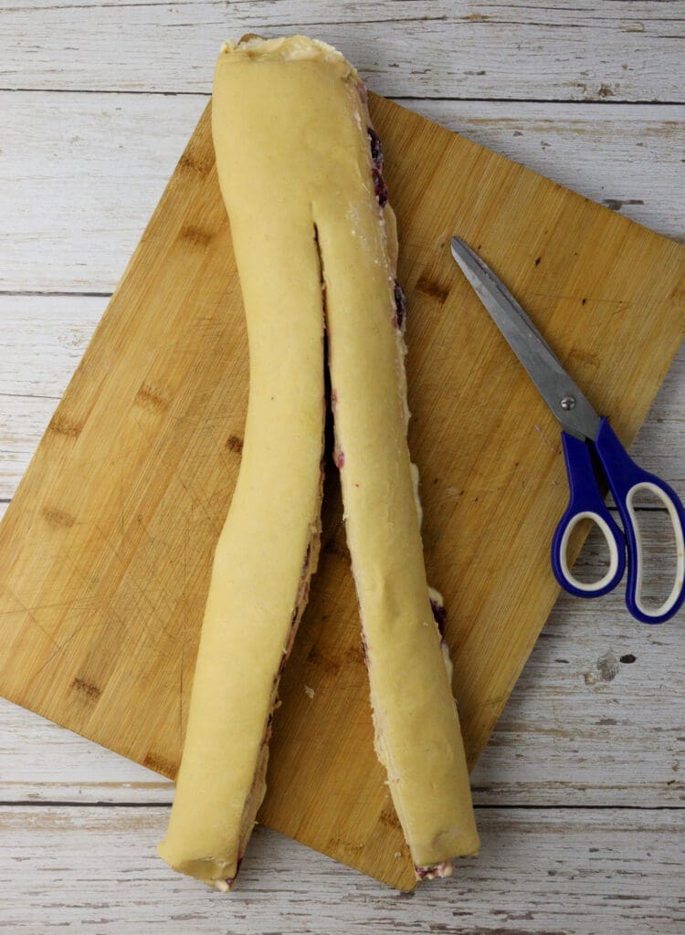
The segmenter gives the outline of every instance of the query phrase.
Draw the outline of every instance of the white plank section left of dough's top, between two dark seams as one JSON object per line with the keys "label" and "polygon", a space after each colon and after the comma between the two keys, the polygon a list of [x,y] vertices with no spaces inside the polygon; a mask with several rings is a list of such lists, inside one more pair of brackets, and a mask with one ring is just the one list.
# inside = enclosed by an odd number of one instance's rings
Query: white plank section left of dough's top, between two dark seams
{"label": "white plank section left of dough's top, between two dark seams", "polygon": [[1,289],[112,292],[206,104],[155,100],[2,95]]}

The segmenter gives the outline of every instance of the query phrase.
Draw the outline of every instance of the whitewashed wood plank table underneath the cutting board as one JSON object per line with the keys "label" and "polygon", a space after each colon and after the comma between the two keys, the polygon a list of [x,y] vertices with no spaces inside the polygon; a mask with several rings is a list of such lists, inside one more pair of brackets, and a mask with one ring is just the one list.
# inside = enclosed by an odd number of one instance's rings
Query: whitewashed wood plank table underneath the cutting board
{"label": "whitewashed wood plank table underneath the cutting board", "polygon": [[[684,18],[647,0],[2,0],[0,510],[223,38],[327,39],[374,91],[682,238]],[[682,352],[634,453],[685,493]],[[661,578],[663,513],[642,515]],[[0,929],[682,932],[682,624],[562,597],[474,772],[481,855],[409,896],[263,828],[239,889],[206,892],[154,855],[170,784],[0,702]]]}

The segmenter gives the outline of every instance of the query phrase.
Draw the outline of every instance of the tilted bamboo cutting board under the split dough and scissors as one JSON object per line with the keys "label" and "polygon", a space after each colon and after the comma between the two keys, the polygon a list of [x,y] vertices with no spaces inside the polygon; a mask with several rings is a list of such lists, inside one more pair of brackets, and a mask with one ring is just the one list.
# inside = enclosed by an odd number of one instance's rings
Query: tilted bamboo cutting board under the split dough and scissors
{"label": "tilted bamboo cutting board under the split dough and scissors", "polygon": [[[449,238],[502,276],[626,444],[683,337],[683,252],[382,98],[372,115],[400,228],[426,561],[473,765],[558,594],[566,484],[558,426]],[[0,527],[0,693],[169,777],[247,365],[208,107]],[[408,889],[330,460],[324,504],[260,820]]]}

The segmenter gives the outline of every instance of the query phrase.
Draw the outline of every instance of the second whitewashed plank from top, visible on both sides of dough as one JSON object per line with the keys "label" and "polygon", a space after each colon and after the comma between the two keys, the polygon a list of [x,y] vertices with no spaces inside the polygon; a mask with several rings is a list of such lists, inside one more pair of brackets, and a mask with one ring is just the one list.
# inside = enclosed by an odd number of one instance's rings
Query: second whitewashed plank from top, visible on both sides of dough
{"label": "second whitewashed plank from top, visible on both sides of dough", "polygon": [[[205,100],[0,94],[0,289],[111,292]],[[633,221],[685,239],[685,203],[673,197],[685,107],[407,104]]]}

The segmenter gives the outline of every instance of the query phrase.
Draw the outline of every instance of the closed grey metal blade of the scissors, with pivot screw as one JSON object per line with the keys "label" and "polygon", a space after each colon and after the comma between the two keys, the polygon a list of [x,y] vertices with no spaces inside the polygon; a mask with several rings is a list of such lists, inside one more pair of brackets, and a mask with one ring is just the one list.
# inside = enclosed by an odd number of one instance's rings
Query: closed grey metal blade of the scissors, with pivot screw
{"label": "closed grey metal blade of the scissors, with pivot screw", "polygon": [[594,440],[600,417],[514,296],[459,237],[452,237],[452,255],[564,431]]}

